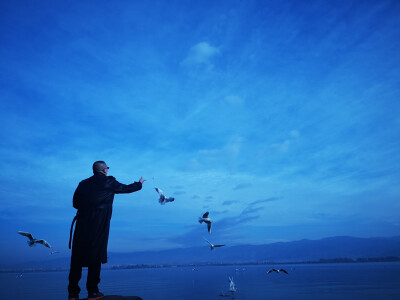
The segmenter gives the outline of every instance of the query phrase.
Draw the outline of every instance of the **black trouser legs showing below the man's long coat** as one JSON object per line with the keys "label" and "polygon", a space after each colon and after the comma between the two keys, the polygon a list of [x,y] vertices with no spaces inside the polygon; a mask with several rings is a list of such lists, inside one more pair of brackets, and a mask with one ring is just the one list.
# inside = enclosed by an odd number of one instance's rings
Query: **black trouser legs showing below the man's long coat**
{"label": "black trouser legs showing below the man's long coat", "polygon": [[[88,267],[88,276],[86,279],[86,289],[88,293],[97,293],[99,291],[101,263],[92,264]],[[82,277],[82,265],[71,260],[71,268],[69,270],[68,293],[79,294],[79,280]]]}

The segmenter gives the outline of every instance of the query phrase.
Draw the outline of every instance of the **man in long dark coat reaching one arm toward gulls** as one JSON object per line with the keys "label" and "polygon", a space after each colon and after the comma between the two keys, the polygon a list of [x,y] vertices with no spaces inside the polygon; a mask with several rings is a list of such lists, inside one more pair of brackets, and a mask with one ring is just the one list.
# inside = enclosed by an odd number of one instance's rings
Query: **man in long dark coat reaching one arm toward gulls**
{"label": "man in long dark coat reaching one arm toward gulls", "polygon": [[81,181],[75,190],[73,206],[78,210],[71,224],[69,248],[74,222],[68,299],[79,299],[79,280],[82,267],[88,267],[86,288],[88,300],[104,297],[99,291],[101,264],[107,262],[107,244],[110,231],[112,204],[115,194],[133,193],[142,188],[143,177],[132,184],[119,183],[107,176],[109,167],[104,161],[93,164],[93,176]]}

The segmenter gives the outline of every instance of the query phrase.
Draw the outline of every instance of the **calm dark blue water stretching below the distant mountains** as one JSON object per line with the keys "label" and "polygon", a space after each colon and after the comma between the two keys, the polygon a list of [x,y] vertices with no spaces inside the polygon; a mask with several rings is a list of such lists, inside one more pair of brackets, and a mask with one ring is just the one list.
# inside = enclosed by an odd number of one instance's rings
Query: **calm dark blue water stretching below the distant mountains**
{"label": "calm dark blue water stretching below the distant mountains", "polygon": [[[267,274],[269,268],[284,268],[289,274]],[[67,299],[67,271],[17,275],[0,274],[0,299]],[[84,271],[81,298],[87,296],[86,275]],[[233,295],[228,277],[233,277],[237,287]],[[103,269],[99,287],[106,295],[144,300],[390,300],[400,299],[400,263]]]}

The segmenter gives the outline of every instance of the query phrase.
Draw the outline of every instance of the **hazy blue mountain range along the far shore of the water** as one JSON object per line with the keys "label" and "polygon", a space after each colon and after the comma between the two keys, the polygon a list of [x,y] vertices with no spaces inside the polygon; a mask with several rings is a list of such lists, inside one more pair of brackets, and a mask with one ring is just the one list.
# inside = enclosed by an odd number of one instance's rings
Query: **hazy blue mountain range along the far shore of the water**
{"label": "hazy blue mountain range along the far shore of the water", "polygon": [[[109,252],[105,267],[118,265],[176,265],[204,263],[263,263],[303,262],[335,258],[400,257],[400,236],[379,238],[329,237],[320,240],[299,240],[265,245],[238,245],[221,248],[178,248],[172,250],[132,253]],[[56,269],[68,268],[69,257],[46,261],[9,264],[1,269]]]}

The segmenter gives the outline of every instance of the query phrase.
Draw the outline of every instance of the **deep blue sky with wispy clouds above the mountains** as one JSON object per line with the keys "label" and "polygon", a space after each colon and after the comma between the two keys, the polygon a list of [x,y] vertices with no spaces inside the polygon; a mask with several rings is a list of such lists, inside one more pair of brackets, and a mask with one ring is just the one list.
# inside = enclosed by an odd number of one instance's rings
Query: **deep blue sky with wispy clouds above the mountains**
{"label": "deep blue sky with wispy clouds above the mountains", "polygon": [[116,195],[109,251],[398,235],[399,13],[2,1],[2,259],[47,254],[18,230],[69,255],[72,195],[95,160],[122,183],[147,179]]}

